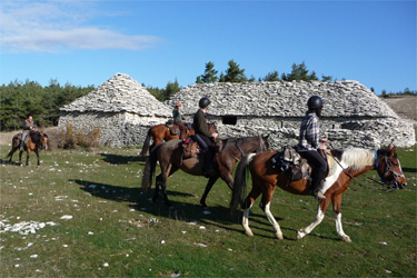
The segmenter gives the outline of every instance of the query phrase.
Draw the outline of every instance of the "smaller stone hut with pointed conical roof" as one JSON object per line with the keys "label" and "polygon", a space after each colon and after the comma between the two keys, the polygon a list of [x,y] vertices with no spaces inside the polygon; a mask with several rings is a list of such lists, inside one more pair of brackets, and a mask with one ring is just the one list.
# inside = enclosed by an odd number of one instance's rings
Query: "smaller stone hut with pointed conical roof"
{"label": "smaller stone hut with pointed conical roof", "polygon": [[163,123],[171,108],[158,101],[128,75],[117,73],[85,97],[60,109],[58,128],[100,128],[108,146],[142,145],[151,126]]}

